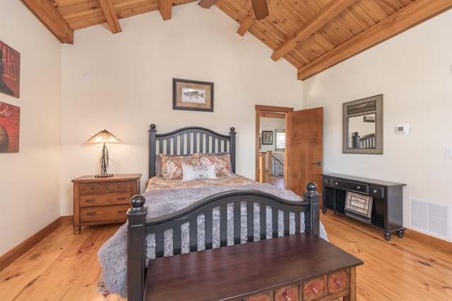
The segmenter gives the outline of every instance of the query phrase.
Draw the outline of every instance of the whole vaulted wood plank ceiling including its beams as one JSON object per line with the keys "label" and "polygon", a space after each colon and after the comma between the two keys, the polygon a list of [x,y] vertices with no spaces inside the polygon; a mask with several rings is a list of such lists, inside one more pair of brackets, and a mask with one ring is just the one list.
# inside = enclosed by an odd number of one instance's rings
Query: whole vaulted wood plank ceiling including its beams
{"label": "whole vaulted wood plank ceiling including its beams", "polygon": [[[63,43],[74,31],[196,0],[20,0]],[[285,59],[304,80],[452,8],[452,0],[267,0],[269,15],[256,20],[251,0],[218,0],[215,6]],[[204,9],[204,8],[199,8]]]}

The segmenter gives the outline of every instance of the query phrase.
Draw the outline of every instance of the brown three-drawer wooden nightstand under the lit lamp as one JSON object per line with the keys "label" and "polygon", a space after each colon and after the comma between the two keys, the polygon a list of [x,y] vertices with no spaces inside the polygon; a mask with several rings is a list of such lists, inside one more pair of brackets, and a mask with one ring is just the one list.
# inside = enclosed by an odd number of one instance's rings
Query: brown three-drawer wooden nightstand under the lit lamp
{"label": "brown three-drawer wooden nightstand under the lit lamp", "polygon": [[73,179],[73,233],[85,225],[124,223],[130,198],[140,191],[141,174]]}

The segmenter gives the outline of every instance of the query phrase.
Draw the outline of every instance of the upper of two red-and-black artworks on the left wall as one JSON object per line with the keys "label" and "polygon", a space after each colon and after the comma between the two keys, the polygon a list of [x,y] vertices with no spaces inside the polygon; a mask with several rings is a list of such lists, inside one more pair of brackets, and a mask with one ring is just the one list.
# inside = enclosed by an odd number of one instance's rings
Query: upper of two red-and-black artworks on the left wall
{"label": "upper of two red-and-black artworks on the left wall", "polygon": [[0,41],[0,92],[19,98],[20,53]]}

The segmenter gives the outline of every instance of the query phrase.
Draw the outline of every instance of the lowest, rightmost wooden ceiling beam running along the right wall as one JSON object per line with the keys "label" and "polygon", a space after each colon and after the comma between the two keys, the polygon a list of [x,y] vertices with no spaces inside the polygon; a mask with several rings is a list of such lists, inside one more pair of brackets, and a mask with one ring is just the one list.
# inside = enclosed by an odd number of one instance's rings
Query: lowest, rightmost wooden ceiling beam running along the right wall
{"label": "lowest, rightmost wooden ceiling beam running along the right wall", "polygon": [[307,79],[452,8],[451,0],[417,0],[297,71]]}

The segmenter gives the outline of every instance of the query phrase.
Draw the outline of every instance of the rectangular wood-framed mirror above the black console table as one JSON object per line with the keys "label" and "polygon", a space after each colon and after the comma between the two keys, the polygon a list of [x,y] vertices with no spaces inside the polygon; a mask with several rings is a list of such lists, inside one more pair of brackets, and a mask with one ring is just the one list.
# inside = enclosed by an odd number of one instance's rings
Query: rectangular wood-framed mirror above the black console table
{"label": "rectangular wood-framed mirror above the black console table", "polygon": [[383,153],[383,94],[343,104],[343,153]]}

